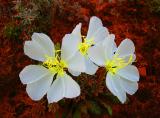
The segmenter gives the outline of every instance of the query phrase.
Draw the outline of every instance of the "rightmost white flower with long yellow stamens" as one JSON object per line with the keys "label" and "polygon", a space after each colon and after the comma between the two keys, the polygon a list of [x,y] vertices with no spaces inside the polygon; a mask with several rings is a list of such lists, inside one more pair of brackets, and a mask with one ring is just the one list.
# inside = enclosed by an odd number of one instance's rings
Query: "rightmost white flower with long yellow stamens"
{"label": "rightmost white flower with long yellow stamens", "polygon": [[124,103],[126,93],[132,95],[138,89],[139,72],[131,65],[136,58],[135,47],[131,40],[125,39],[117,48],[114,39],[108,38],[91,47],[89,55],[94,63],[106,68],[108,89]]}

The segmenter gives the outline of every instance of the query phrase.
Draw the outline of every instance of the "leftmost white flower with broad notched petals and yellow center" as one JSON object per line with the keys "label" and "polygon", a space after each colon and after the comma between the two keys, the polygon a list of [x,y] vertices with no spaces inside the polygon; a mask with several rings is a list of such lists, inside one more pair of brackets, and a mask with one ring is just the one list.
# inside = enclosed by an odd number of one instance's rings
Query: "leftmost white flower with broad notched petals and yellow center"
{"label": "leftmost white flower with broad notched petals and yellow center", "polygon": [[[56,51],[51,39],[43,33],[34,33],[32,41],[24,44],[24,53],[30,58],[41,61],[41,65],[26,66],[19,74],[26,91],[33,100],[40,100],[46,93],[49,103],[62,98],[74,98],[80,95],[79,85],[66,74],[66,69],[84,71],[84,61],[75,46],[74,36],[65,35],[61,50]],[[74,53],[74,55],[73,55]],[[61,54],[61,56],[59,55]],[[56,77],[53,80],[53,77]]]}

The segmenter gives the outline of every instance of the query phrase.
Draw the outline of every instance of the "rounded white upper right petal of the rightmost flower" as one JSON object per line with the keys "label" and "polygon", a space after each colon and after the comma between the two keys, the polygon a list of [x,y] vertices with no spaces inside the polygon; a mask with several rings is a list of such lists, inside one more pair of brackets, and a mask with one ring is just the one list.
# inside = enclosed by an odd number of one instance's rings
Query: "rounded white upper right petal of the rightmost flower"
{"label": "rounded white upper right petal of the rightmost flower", "polygon": [[134,52],[134,43],[130,39],[123,40],[116,51],[119,57],[127,56],[133,54]]}

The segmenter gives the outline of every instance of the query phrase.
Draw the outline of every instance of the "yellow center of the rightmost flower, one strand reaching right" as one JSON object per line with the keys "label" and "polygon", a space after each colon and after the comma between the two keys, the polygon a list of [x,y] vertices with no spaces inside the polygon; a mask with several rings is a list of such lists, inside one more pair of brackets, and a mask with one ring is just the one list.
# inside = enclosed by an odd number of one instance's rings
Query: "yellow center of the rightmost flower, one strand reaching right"
{"label": "yellow center of the rightmost flower, one strand reaching right", "polygon": [[112,60],[107,60],[105,68],[107,72],[115,75],[119,69],[122,69],[129,65],[133,60],[133,55],[130,55],[128,61],[126,62],[124,58],[118,57],[117,54],[114,55]]}

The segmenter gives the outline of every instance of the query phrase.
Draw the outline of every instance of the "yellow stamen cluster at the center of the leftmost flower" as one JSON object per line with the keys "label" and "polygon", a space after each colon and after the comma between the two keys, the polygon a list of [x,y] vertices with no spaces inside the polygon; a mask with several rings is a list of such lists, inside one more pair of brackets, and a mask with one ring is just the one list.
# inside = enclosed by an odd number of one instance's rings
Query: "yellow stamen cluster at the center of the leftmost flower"
{"label": "yellow stamen cluster at the center of the leftmost flower", "polygon": [[55,57],[46,56],[46,60],[43,62],[43,66],[46,67],[51,73],[58,74],[63,76],[65,73],[65,69],[67,68],[67,63],[60,59],[59,55],[56,51]]}

